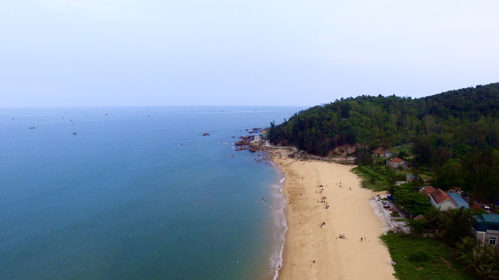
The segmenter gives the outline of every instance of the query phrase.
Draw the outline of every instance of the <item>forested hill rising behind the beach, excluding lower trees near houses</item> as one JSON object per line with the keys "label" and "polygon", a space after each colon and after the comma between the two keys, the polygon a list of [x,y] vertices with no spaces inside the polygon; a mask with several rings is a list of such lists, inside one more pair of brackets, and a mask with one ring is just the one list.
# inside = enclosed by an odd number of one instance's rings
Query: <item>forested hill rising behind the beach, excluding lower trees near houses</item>
{"label": "forested hill rising behind the beach, excluding lower trees near houses", "polygon": [[419,164],[439,165],[444,159],[439,157],[463,153],[463,149],[499,147],[499,83],[417,99],[342,98],[270,126],[271,142],[314,154],[326,155],[345,143],[389,148],[416,142],[438,153],[420,157]]}

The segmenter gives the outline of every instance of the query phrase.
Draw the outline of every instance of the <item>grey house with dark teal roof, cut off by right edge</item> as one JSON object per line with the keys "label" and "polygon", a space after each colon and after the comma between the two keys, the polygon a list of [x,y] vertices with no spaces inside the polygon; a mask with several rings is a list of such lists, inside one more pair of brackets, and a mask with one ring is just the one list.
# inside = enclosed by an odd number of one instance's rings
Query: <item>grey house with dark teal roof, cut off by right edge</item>
{"label": "grey house with dark teal roof, cut off by right edge", "polygon": [[475,216],[475,222],[472,224],[471,232],[477,239],[477,242],[482,246],[486,244],[498,246],[499,216],[490,214]]}

